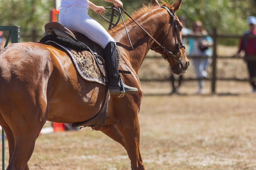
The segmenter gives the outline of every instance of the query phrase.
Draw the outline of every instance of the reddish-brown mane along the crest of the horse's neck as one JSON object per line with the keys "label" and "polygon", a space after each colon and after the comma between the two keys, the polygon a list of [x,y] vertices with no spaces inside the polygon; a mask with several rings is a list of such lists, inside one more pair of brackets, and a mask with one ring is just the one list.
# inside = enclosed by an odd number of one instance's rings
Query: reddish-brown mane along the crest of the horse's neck
{"label": "reddish-brown mane along the crest of the horse's neck", "polygon": [[[161,6],[165,6],[165,7],[170,7],[169,4],[167,3],[164,3],[164,4],[161,4]],[[132,14],[132,18],[134,20],[136,20],[137,18],[139,18],[141,15],[145,14],[145,13],[148,13],[149,11],[151,11],[152,9],[154,8],[158,8],[159,6],[153,6],[151,4],[148,4],[148,6],[146,6],[145,4],[143,4],[143,7],[141,7],[139,10],[135,11],[135,13]],[[126,25],[129,25],[131,24],[133,21],[132,19],[128,18],[127,20],[125,20],[125,24]],[[120,31],[121,29],[124,29],[124,24],[118,24],[115,28],[111,29],[109,31],[110,35],[113,35],[114,33],[116,33],[117,31]]]}

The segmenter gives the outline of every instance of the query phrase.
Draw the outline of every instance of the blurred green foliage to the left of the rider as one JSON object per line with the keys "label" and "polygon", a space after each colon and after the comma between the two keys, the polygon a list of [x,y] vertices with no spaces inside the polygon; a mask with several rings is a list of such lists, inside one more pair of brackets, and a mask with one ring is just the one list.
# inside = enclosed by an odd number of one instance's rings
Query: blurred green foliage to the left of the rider
{"label": "blurred green foliage to the left of the rider", "polygon": [[31,29],[43,33],[53,8],[55,0],[0,0],[0,25],[19,25],[21,34],[30,33]]}

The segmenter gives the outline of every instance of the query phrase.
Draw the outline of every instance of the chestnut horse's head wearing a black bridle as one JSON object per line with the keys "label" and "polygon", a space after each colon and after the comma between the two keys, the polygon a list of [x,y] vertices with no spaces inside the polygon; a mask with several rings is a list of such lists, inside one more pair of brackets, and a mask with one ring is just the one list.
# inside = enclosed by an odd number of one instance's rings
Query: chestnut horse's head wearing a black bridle
{"label": "chestnut horse's head wearing a black bridle", "polygon": [[186,57],[185,46],[182,44],[182,23],[175,11],[180,9],[182,0],[160,6],[157,0],[152,1],[153,6],[159,6],[159,20],[164,23],[158,33],[158,37],[151,49],[160,53],[171,66],[173,73],[181,75],[189,67],[189,60]]}

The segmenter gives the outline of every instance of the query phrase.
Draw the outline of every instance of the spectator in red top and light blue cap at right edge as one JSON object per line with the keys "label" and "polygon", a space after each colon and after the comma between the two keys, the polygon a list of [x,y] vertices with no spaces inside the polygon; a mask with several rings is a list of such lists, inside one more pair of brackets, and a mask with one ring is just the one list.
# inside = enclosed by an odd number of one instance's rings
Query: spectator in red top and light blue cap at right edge
{"label": "spectator in red top and light blue cap at right edge", "polygon": [[[248,19],[249,30],[245,32],[244,36],[256,36],[256,17],[250,16]],[[238,52],[234,56],[239,56],[240,52],[245,52],[245,57],[256,56],[256,39],[255,38],[243,38],[240,40]],[[256,92],[256,59],[254,60],[245,58],[247,62],[247,69],[249,72],[250,84],[252,85],[252,93]]]}

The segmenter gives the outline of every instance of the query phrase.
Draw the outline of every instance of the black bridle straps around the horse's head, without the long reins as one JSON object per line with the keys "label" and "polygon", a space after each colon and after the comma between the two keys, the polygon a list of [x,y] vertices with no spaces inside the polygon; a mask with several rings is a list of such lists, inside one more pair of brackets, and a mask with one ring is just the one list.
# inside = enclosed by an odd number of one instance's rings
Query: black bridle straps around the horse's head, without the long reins
{"label": "black bridle straps around the horse's head, without the long reins", "polygon": [[[175,59],[175,57],[176,57],[177,55],[180,55],[180,49],[181,49],[181,48],[184,48],[184,49],[185,49],[185,46],[182,44],[182,41],[181,41],[181,38],[180,38],[179,29],[178,29],[178,26],[177,26],[176,21],[175,21],[175,13],[173,14],[173,13],[170,11],[170,9],[168,9],[167,7],[161,6],[161,8],[164,8],[164,9],[166,9],[166,10],[168,11],[169,15],[171,16],[171,18],[172,18],[172,20],[173,20],[173,24],[171,25],[171,28],[169,29],[169,32],[168,32],[168,34],[166,35],[166,38],[164,39],[164,41],[162,42],[162,44],[160,44],[159,42],[157,42],[157,40],[155,40],[155,39],[154,39],[153,37],[151,37],[151,35],[150,35],[150,37],[159,45],[159,46],[157,46],[157,47],[151,47],[151,49],[157,49],[157,48],[159,48],[159,47],[162,47],[162,49],[164,50],[163,53],[166,52],[166,53],[168,53],[168,54],[171,55],[170,57],[165,57],[165,56],[162,54],[162,57],[164,57],[165,60],[167,60],[167,59],[169,59],[169,58],[171,58],[171,57],[174,57],[174,59]],[[164,42],[167,40],[169,34],[171,33],[171,30],[173,29],[173,25],[175,25],[175,30],[176,30],[175,33],[176,33],[177,39],[178,39],[178,43],[176,44],[177,49],[175,50],[174,53],[172,53],[170,50],[166,49],[165,46],[164,46]],[[180,55],[180,57],[179,57],[177,60],[175,60],[175,62],[179,62],[179,61],[182,59],[182,57],[184,57],[184,55],[185,55],[185,52],[183,53],[182,56]]]}

